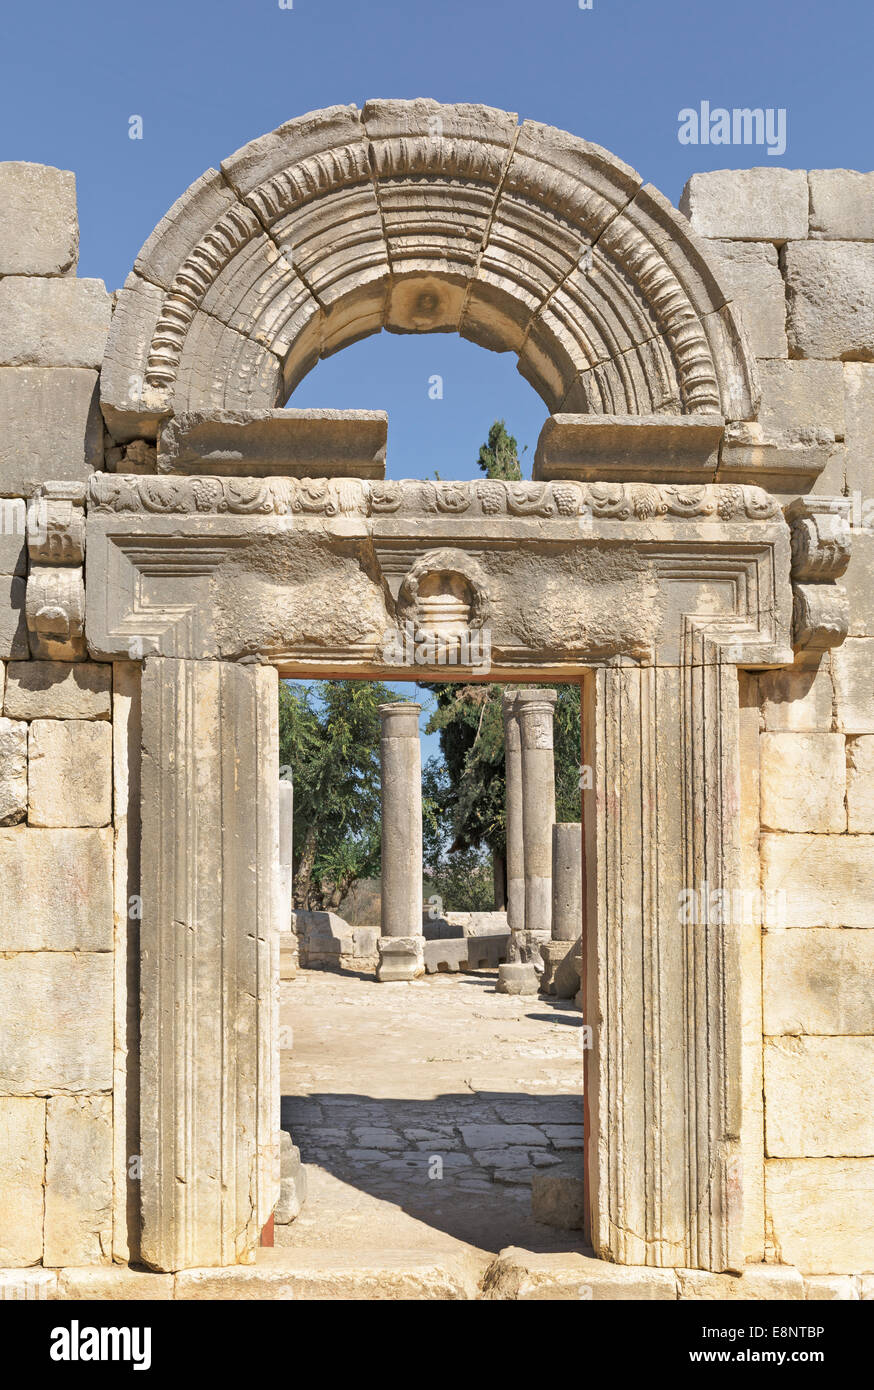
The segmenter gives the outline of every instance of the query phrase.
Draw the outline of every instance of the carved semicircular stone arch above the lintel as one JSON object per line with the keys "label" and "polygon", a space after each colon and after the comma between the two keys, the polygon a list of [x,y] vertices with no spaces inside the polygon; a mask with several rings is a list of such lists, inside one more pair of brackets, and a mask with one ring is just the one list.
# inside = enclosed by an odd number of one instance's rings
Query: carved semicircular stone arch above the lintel
{"label": "carved semicircular stone arch above the lintel", "polygon": [[728,296],[657,189],[563,131],[420,99],[299,117],[201,175],[119,293],[104,414],[149,438],[274,409],[381,328],[514,352],[550,411],[757,404]]}

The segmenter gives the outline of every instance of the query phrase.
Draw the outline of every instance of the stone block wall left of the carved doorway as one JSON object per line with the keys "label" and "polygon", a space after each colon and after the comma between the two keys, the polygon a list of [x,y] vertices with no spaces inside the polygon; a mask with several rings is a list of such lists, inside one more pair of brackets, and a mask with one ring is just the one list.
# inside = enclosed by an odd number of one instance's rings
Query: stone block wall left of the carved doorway
{"label": "stone block wall left of the carved doorway", "polygon": [[0,1266],[113,1255],[113,669],[31,656],[26,500],[103,463],[75,179],[0,164]]}

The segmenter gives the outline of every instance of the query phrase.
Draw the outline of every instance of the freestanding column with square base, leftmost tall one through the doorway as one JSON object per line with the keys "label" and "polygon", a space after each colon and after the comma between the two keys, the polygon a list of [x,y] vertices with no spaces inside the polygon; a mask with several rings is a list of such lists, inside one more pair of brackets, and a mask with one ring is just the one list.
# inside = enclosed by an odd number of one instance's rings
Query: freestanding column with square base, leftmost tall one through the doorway
{"label": "freestanding column with square base, leftmost tall one through the doorway", "polygon": [[424,972],[421,705],[379,706],[382,731],[382,908],[379,980]]}

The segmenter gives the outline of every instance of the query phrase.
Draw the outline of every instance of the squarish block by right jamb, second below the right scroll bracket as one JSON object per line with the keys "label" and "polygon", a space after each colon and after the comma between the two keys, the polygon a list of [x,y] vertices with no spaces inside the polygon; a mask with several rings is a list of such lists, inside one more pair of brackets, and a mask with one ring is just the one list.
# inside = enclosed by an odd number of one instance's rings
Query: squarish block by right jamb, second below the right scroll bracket
{"label": "squarish block by right jamb, second below the right scroll bracket", "polygon": [[843,734],[761,735],[763,830],[846,830]]}

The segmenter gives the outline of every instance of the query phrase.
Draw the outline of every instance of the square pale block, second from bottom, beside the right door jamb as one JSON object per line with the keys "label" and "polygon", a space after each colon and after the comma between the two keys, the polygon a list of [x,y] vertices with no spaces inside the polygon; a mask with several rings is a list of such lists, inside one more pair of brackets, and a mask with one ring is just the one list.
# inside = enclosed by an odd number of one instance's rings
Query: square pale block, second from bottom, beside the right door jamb
{"label": "square pale block, second from bottom, beside the right door jamb", "polygon": [[874,1037],[764,1042],[768,1158],[874,1154]]}

